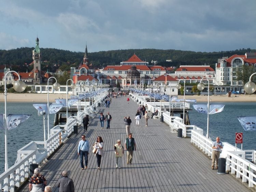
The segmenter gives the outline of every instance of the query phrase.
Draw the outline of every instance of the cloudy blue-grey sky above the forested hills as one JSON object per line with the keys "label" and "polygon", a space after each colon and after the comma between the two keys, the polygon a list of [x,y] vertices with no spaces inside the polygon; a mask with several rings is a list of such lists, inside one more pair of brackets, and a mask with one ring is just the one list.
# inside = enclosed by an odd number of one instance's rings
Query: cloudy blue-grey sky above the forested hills
{"label": "cloudy blue-grey sky above the forested hills", "polygon": [[256,48],[255,0],[0,0],[0,49]]}

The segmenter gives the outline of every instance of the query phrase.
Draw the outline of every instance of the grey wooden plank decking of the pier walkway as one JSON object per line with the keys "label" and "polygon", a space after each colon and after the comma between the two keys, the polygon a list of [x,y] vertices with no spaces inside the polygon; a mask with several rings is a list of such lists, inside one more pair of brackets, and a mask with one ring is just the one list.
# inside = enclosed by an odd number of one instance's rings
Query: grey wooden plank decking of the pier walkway
{"label": "grey wooden plank decking of the pier walkway", "polygon": [[[128,96],[127,96],[128,97]],[[112,98],[110,108],[98,107],[106,115],[110,112],[113,120],[111,129],[100,129],[98,114],[90,119],[88,131],[79,128],[41,168],[48,185],[55,187],[63,170],[69,171],[75,191],[250,191],[241,182],[228,174],[219,175],[211,169],[211,160],[190,143],[189,138],[177,138],[170,127],[159,119],[145,119],[136,127],[134,116],[138,105],[127,97]],[[149,113],[151,116],[151,113]],[[132,164],[126,164],[126,151],[122,158],[122,169],[115,169],[114,144],[126,138],[125,116],[130,116],[131,131],[137,143]],[[104,141],[104,158],[101,170],[97,169],[96,157],[90,151],[88,168],[81,170],[77,146],[81,135],[92,145],[98,136]],[[19,191],[28,191],[28,185]]]}

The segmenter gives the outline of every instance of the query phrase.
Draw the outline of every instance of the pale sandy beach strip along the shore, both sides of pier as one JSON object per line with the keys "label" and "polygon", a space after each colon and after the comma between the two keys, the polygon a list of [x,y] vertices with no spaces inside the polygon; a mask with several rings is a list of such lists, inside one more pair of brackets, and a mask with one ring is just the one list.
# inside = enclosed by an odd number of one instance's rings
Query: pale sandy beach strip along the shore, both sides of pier
{"label": "pale sandy beach strip along the shore, both sides of pier", "polygon": [[[68,95],[68,98],[70,95]],[[49,102],[55,102],[55,99],[66,99],[66,94],[49,94]],[[183,99],[183,95],[178,96]],[[185,95],[186,99],[196,99],[197,102],[207,102],[208,95]],[[210,101],[212,102],[255,102],[256,94],[253,95],[211,95]],[[0,102],[4,102],[4,94],[1,93]],[[8,93],[7,102],[42,102],[47,103],[47,93]]]}

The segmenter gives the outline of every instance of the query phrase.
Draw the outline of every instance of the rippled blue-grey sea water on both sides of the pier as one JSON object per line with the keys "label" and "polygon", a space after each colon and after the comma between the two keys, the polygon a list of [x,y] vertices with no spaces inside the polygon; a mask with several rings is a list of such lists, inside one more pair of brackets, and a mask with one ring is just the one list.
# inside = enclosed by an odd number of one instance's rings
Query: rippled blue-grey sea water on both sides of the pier
{"label": "rippled blue-grey sea water on both sides of the pier", "polygon": [[[17,150],[31,141],[43,141],[43,117],[37,115],[33,103],[8,103],[7,114],[32,114],[17,128],[8,131],[8,163],[11,167],[17,158]],[[216,103],[217,104],[217,103]],[[256,103],[219,103],[226,104],[221,113],[209,115],[209,134],[212,138],[234,145],[235,133],[243,132],[243,149],[256,149],[256,131],[245,132],[238,116],[254,116]],[[4,103],[0,103],[0,114],[4,113]],[[190,124],[197,125],[207,133],[207,114],[189,111]],[[50,128],[53,127],[54,114],[50,115]],[[46,129],[47,129],[47,120]],[[240,145],[238,144],[238,147]],[[0,174],[4,171],[4,130],[0,130]]]}

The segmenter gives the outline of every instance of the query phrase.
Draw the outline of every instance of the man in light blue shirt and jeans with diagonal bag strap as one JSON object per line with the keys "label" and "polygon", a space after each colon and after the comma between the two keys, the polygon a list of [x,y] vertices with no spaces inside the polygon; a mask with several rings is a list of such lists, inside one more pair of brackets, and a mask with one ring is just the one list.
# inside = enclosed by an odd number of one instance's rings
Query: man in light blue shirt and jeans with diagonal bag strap
{"label": "man in light blue shirt and jeans with diagonal bag strap", "polygon": [[84,159],[85,159],[85,168],[87,169],[90,144],[85,139],[85,135],[82,135],[81,138],[82,140],[79,142],[78,148],[77,148],[77,155],[80,155],[80,164],[82,169],[84,169]]}

